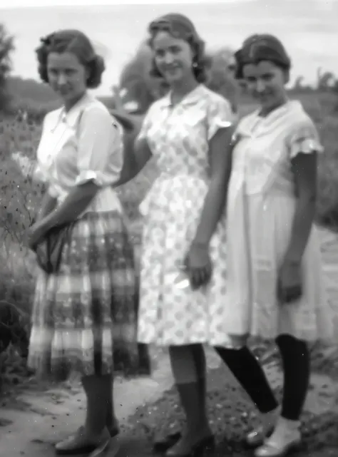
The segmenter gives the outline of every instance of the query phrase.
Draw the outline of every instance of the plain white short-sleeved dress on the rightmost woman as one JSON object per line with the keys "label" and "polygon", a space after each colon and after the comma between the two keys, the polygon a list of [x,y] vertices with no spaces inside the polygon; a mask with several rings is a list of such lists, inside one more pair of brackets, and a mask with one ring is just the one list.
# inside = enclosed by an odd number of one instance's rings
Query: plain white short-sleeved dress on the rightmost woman
{"label": "plain white short-sleeved dress on the rightmost woman", "polygon": [[333,337],[332,310],[323,284],[319,231],[312,227],[302,257],[302,297],[277,301],[277,272],[295,215],[291,159],[322,152],[316,128],[297,101],[237,126],[227,197],[227,333],[314,341]]}

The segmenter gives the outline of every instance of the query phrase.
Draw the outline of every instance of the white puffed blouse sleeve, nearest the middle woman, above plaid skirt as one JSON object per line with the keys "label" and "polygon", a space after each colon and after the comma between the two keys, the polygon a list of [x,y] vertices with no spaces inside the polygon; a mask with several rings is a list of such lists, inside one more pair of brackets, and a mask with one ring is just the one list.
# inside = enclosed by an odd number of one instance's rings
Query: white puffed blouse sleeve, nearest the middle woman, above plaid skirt
{"label": "white puffed blouse sleeve, nearest the middle woman, above plaid skirt", "polygon": [[78,125],[78,176],[75,185],[115,183],[123,165],[122,128],[108,111],[91,107]]}

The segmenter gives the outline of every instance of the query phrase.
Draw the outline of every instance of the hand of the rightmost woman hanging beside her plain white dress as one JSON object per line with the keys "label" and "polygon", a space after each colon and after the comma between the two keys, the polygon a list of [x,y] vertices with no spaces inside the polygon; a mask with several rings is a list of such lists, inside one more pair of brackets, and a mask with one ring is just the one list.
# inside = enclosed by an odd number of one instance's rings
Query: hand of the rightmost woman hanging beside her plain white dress
{"label": "hand of the rightmost woman hanging beside her plain white dress", "polygon": [[285,257],[278,278],[278,299],[281,304],[292,303],[302,297],[301,262]]}

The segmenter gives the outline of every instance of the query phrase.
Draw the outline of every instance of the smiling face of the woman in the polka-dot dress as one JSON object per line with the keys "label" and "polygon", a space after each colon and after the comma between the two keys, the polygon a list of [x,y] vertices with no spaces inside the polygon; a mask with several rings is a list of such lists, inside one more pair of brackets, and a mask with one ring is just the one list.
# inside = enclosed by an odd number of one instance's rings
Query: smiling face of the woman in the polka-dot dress
{"label": "smiling face of the woman in the polka-dot dress", "polygon": [[190,44],[160,31],[153,39],[155,64],[165,81],[172,85],[193,74],[193,51]]}

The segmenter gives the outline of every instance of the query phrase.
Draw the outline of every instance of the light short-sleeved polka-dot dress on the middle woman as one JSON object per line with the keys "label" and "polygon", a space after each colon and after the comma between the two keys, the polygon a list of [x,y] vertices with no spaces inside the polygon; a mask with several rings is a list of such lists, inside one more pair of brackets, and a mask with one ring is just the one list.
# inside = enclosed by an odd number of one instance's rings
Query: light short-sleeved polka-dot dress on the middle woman
{"label": "light short-sleeved polka-dot dress on the middle woman", "polygon": [[[140,205],[144,215],[138,342],[158,345],[225,343],[227,296],[225,219],[211,240],[212,279],[193,291],[177,277],[193,240],[210,183],[209,141],[232,123],[229,103],[198,86],[176,106],[170,96],[150,107],[146,138],[160,176]],[[225,148],[226,153],[226,148]]]}

